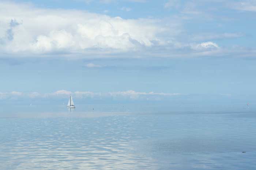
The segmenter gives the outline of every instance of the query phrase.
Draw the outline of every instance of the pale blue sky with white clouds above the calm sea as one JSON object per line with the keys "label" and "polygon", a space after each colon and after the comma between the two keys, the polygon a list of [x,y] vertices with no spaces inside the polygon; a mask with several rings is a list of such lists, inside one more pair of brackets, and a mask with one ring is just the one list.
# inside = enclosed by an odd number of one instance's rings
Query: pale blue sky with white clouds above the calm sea
{"label": "pale blue sky with white clouds above the calm sea", "polygon": [[255,28],[256,0],[2,0],[0,100],[256,104]]}

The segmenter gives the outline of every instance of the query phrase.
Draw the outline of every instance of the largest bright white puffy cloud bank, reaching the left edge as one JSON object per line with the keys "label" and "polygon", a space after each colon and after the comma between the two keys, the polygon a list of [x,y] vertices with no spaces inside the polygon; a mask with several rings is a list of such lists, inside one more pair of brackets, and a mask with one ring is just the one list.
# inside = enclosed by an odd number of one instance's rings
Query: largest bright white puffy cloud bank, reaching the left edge
{"label": "largest bright white puffy cloud bank, reaching the left edge", "polygon": [[159,35],[170,31],[156,19],[122,19],[9,2],[0,2],[0,20],[1,52],[19,56],[139,51],[164,43]]}

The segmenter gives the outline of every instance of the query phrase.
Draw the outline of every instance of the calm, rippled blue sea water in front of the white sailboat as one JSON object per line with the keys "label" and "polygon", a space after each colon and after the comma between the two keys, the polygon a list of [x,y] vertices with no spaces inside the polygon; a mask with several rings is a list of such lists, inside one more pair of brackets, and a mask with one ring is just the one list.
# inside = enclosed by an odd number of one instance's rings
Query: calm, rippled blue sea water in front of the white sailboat
{"label": "calm, rippled blue sea water in front of the white sailboat", "polygon": [[256,167],[252,113],[30,116],[0,118],[1,170]]}

